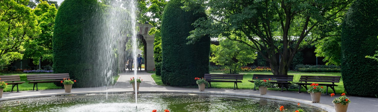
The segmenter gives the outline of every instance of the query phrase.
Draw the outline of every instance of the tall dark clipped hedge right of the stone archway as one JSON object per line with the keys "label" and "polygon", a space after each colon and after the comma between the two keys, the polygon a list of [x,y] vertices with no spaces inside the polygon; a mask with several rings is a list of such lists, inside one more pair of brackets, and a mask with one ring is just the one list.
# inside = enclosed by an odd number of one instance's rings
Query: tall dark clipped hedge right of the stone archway
{"label": "tall dark clipped hedge right of the stone archway", "polygon": [[210,38],[204,36],[195,44],[186,44],[191,24],[204,15],[185,12],[181,0],[170,0],[163,12],[161,25],[161,78],[170,86],[195,84],[195,77],[209,73]]}

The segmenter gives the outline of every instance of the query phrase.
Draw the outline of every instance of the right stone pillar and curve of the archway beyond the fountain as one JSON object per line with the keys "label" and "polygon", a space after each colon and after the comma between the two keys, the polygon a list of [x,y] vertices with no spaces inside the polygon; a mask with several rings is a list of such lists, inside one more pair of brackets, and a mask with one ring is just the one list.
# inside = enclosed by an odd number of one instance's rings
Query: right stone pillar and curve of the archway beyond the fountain
{"label": "right stone pillar and curve of the archway beyond the fountain", "polygon": [[155,61],[153,58],[153,42],[155,39],[155,34],[148,34],[148,32],[153,26],[150,24],[138,24],[138,26],[138,35],[141,35],[141,38],[143,38],[143,40],[146,41],[146,43],[144,44],[144,70],[153,71],[153,69],[155,68]]}

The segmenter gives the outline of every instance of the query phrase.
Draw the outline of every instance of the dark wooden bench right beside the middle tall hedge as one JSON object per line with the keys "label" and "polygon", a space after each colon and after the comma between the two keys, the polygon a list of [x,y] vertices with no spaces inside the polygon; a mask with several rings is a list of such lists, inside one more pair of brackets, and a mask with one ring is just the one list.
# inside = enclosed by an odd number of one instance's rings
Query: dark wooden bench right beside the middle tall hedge
{"label": "dark wooden bench right beside the middle tall hedge", "polygon": [[206,81],[209,82],[211,88],[211,82],[226,82],[226,83],[234,83],[234,89],[237,83],[242,83],[243,74],[205,74],[204,78]]}

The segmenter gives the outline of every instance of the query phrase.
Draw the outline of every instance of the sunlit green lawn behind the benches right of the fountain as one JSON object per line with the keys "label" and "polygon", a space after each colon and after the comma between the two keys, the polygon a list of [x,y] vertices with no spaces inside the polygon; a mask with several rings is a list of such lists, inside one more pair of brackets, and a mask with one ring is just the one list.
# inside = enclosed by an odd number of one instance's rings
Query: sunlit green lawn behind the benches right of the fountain
{"label": "sunlit green lawn behind the benches right of the fountain", "polygon": [[[253,89],[254,83],[251,83],[248,80],[252,80],[253,74],[257,74],[257,73],[258,74],[272,74],[271,72],[253,72],[253,73],[249,72],[247,74],[244,74],[243,80],[242,80],[243,83],[238,83],[238,88],[239,89]],[[329,73],[328,72],[322,72],[322,73],[289,72],[288,75],[294,75],[294,78],[293,78],[294,82],[295,81],[298,82],[301,75],[341,76],[341,73],[335,73],[335,72],[329,72]],[[153,80],[156,82],[156,84],[164,86],[164,84],[161,82],[161,76],[158,76],[158,75],[155,75],[155,74],[153,74],[151,76],[152,76]],[[308,82],[308,83],[310,83],[310,82]],[[344,84],[342,82],[342,79],[340,80],[339,83],[335,83],[335,84],[338,85],[338,86],[335,86],[336,94],[346,93],[345,90],[344,90]],[[189,87],[198,87],[198,86],[189,86]],[[212,82],[211,87],[212,88],[222,88],[222,89],[234,89],[234,83]],[[256,87],[256,89],[258,89],[258,87]],[[279,87],[278,88],[268,88],[268,90],[281,91],[281,88],[279,88]],[[285,90],[285,88],[284,88],[284,90]],[[289,89],[289,91],[298,91],[298,89]],[[307,92],[307,91],[304,87],[302,87],[301,92]],[[328,93],[333,93],[333,90],[331,88],[328,88]]]}

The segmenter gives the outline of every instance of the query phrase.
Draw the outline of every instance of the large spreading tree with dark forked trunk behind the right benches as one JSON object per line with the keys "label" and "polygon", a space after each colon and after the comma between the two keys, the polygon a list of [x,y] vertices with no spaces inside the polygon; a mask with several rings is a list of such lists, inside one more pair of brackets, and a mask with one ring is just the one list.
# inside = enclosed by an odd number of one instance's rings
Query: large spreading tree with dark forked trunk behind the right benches
{"label": "large spreading tree with dark forked trunk behind the right benches", "polygon": [[[240,41],[263,54],[274,75],[287,75],[294,55],[325,37],[331,37],[336,19],[352,0],[184,0],[187,11],[207,9],[188,37],[192,42],[205,34],[237,35]],[[243,36],[244,35],[244,36]],[[276,55],[278,54],[278,55]],[[279,60],[277,60],[280,57]]]}

